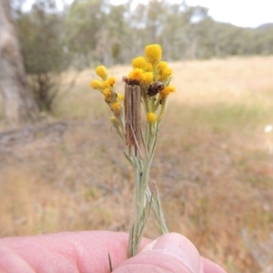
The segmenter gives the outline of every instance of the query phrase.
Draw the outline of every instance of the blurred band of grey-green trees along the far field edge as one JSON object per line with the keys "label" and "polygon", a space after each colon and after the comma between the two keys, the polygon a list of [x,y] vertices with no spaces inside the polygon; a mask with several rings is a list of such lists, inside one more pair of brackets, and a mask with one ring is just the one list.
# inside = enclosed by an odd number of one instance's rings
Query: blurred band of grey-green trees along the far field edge
{"label": "blurred band of grey-green trees along the far field edge", "polygon": [[273,54],[272,25],[218,23],[202,6],[77,0],[57,13],[49,1],[38,0],[17,19],[29,73],[128,63],[151,43],[162,45],[167,60]]}

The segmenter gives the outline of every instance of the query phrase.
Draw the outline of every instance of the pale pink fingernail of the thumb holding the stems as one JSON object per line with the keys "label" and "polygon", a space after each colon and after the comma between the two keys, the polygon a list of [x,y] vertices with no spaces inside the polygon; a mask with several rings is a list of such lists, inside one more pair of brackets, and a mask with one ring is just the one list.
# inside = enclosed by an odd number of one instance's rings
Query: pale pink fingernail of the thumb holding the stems
{"label": "pale pink fingernail of the thumb holding the stems", "polygon": [[203,264],[197,248],[178,233],[165,234],[147,244],[141,252],[153,251],[177,258],[193,273],[203,272]]}

